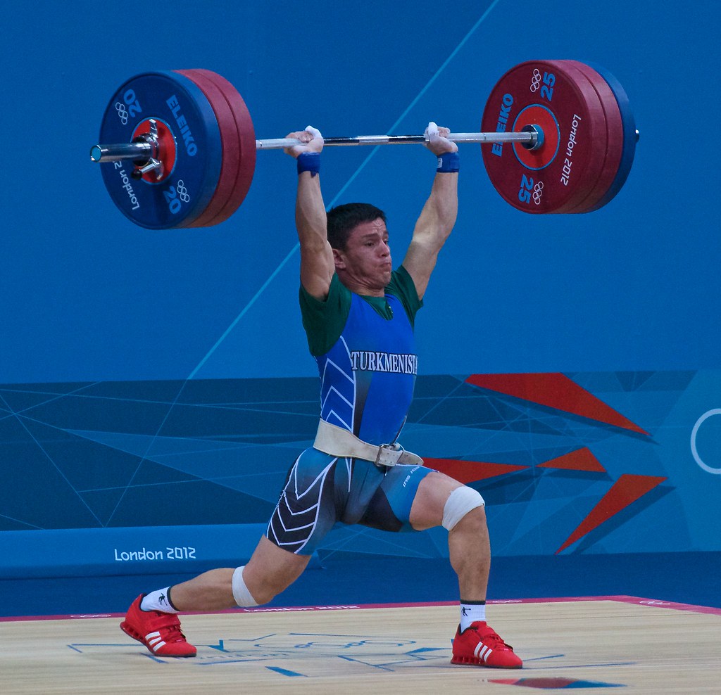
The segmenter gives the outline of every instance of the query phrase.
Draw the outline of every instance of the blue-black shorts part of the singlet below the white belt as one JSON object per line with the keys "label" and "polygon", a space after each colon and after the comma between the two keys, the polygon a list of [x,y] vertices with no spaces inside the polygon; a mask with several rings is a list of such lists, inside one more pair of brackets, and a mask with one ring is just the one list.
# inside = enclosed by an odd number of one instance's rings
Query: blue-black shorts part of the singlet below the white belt
{"label": "blue-black shorts part of the singlet below the white belt", "polygon": [[410,508],[420,481],[431,470],[408,465],[380,468],[306,449],[288,472],[266,536],[284,550],[312,555],[338,521],[413,531]]}

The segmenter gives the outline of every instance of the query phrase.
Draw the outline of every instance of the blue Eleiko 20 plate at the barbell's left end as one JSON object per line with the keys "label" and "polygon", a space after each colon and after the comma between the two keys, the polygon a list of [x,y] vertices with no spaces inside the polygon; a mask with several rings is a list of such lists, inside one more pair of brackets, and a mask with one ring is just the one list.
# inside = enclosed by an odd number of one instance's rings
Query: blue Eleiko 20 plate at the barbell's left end
{"label": "blue Eleiko 20 plate at the barbell's left end", "polygon": [[223,153],[215,112],[198,85],[180,73],[142,73],[110,99],[99,142],[131,142],[149,130],[150,118],[164,135],[160,158],[168,166],[162,178],[146,174],[131,179],[131,161],[104,162],[105,187],[123,215],[141,227],[187,227],[208,206],[218,185]]}

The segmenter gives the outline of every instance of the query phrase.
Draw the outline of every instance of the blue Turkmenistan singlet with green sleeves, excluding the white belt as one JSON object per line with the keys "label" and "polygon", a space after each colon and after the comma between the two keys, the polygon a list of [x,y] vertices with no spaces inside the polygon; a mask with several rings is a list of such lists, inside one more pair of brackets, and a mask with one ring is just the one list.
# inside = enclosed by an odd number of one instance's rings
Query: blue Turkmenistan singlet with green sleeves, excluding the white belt
{"label": "blue Turkmenistan singlet with green sleeves, excluding the white belt", "polygon": [[[392,274],[385,297],[355,295],[337,276],[325,302],[301,290],[324,420],[371,444],[396,440],[415,385],[413,322],[421,306],[403,266]],[[306,449],[288,472],[267,537],[286,550],[310,555],[337,521],[411,531],[410,508],[428,472],[423,466],[378,467]]]}

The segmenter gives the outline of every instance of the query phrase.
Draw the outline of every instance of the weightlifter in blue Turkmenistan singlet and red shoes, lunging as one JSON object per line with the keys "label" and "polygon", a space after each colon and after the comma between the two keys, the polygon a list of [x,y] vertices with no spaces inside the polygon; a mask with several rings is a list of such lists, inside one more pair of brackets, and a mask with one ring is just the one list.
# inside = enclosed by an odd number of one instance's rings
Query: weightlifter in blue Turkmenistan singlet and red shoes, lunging
{"label": "weightlifter in blue Turkmenistan singlet and red shoes, lunging", "polygon": [[523,665],[485,619],[490,542],[482,496],[424,467],[397,444],[417,372],[415,315],[456,223],[459,154],[448,133],[435,123],[426,130],[438,168],[395,270],[384,212],[350,203],[326,213],[322,135],[312,127],[288,135],[302,143],[286,152],[298,169],[301,315],[321,379],[317,436],[288,472],[265,537],[247,565],[210,570],[133,601],[120,627],[151,653],[195,656],[177,613],[267,603],[301,575],[340,521],[390,532],[448,529],[461,604],[452,663]]}

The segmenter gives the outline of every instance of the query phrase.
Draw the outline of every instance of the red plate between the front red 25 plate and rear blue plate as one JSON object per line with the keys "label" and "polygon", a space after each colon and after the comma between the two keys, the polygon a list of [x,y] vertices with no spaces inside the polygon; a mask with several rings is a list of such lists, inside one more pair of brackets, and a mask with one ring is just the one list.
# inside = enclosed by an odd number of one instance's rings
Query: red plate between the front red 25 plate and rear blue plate
{"label": "red plate between the front red 25 plate and rear blue plate", "polygon": [[590,212],[596,208],[598,202],[609,191],[609,187],[616,179],[619,166],[621,165],[621,154],[624,148],[624,124],[621,117],[619,104],[609,83],[593,68],[580,63],[577,60],[567,60],[565,63],[578,68],[583,73],[593,89],[596,90],[598,98],[601,99],[603,113],[606,115],[606,158],[603,162],[603,169],[599,172],[598,181],[585,200],[581,201],[570,212]]}

